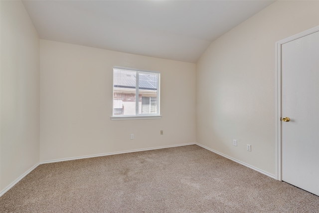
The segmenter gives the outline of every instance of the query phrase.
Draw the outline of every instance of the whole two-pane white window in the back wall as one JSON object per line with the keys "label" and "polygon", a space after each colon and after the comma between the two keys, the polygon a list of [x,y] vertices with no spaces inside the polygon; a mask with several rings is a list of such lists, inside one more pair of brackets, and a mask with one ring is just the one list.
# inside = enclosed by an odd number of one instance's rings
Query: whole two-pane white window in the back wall
{"label": "whole two-pane white window in the back wall", "polygon": [[160,116],[160,73],[113,68],[113,118]]}

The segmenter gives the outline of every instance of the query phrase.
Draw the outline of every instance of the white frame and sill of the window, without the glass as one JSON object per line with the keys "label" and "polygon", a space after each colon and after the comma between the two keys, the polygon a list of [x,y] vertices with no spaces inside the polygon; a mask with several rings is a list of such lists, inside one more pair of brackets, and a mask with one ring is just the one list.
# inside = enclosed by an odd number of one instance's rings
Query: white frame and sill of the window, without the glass
{"label": "white frame and sill of the window, without the glass", "polygon": [[[149,71],[149,70],[141,70],[135,68],[127,68],[127,67],[113,67],[113,78],[114,78],[114,69],[122,69],[127,71],[132,71],[136,73],[136,113],[135,115],[114,115],[114,79],[112,80],[112,116],[111,120],[131,120],[131,119],[160,119],[160,72],[157,71]],[[140,73],[150,73],[150,74],[157,74],[158,75],[158,87],[157,87],[157,103],[158,103],[158,113],[157,114],[139,114],[139,74]],[[150,98],[151,104],[151,98]],[[142,110],[142,105],[141,105]]]}

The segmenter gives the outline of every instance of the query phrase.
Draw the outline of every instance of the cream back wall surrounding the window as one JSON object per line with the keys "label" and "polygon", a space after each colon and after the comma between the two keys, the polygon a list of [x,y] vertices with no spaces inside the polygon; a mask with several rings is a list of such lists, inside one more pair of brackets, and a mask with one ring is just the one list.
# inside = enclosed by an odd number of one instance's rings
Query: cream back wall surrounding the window
{"label": "cream back wall surrounding the window", "polygon": [[[161,73],[161,119],[110,119],[113,66]],[[40,161],[194,143],[195,66],[40,40]]]}

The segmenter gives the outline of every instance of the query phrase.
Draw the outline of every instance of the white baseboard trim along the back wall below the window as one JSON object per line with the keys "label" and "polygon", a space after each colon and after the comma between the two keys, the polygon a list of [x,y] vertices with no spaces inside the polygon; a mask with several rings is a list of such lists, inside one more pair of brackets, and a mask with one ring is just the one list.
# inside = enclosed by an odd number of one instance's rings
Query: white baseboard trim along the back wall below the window
{"label": "white baseboard trim along the back wall below the window", "polygon": [[153,147],[153,148],[146,148],[146,149],[135,149],[135,150],[122,151],[122,152],[110,152],[110,153],[103,153],[103,154],[97,154],[97,155],[87,155],[87,156],[74,157],[74,158],[61,158],[61,159],[50,160],[50,161],[42,161],[40,162],[40,164],[50,164],[50,163],[57,163],[57,162],[63,162],[63,161],[73,161],[73,160],[80,160],[80,159],[86,159],[86,158],[96,158],[96,157],[103,157],[103,156],[109,156],[109,155],[133,153],[133,152],[143,152],[143,151],[165,149],[165,148],[172,148],[172,147],[181,147],[181,146],[195,145],[195,144],[196,143],[186,143],[186,144],[160,146],[160,147]]}

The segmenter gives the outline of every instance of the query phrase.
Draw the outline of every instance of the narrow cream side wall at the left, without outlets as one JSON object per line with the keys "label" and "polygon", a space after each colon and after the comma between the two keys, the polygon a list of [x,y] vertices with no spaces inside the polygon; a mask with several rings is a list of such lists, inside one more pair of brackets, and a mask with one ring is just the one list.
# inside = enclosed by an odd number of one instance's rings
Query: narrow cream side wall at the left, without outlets
{"label": "narrow cream side wall at the left, without outlets", "polygon": [[39,162],[39,38],[21,1],[1,4],[0,192]]}

